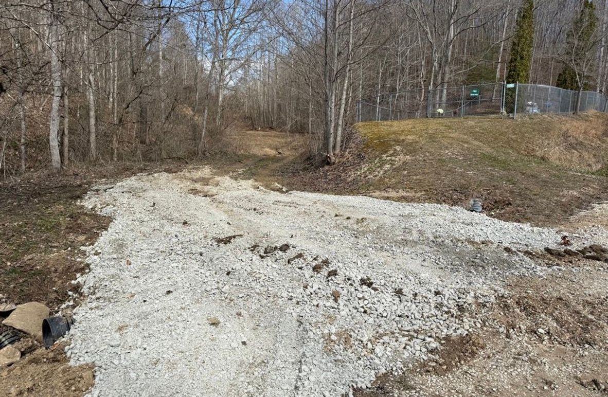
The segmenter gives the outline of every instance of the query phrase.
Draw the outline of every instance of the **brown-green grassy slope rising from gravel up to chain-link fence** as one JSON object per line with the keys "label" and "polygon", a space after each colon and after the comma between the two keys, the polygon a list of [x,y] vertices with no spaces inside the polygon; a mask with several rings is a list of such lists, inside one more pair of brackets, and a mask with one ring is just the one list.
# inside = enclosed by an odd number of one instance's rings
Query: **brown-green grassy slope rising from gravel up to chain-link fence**
{"label": "brown-green grassy slope rising from gravel up to chain-link fence", "polygon": [[452,205],[476,196],[490,215],[536,224],[608,199],[606,114],[367,122],[358,130],[362,159],[294,187]]}

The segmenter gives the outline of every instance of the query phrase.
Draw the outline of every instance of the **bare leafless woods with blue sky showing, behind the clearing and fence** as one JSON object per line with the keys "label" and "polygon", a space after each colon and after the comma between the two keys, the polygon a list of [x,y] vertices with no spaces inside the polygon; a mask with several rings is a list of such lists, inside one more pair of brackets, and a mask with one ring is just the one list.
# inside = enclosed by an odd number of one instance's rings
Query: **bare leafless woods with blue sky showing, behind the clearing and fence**
{"label": "bare leafless woods with blue sky showing, behind the clearing and fence", "polygon": [[608,95],[607,23],[608,0],[5,0],[0,171],[204,156],[240,128],[334,162],[383,92]]}

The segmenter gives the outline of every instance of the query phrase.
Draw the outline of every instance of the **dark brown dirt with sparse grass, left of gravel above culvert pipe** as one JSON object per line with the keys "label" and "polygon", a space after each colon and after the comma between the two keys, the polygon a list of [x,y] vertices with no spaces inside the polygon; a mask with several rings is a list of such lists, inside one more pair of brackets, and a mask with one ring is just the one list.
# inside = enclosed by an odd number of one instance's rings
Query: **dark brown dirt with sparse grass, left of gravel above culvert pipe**
{"label": "dark brown dirt with sparse grass, left of gravel above culvert pipe", "polygon": [[86,190],[81,182],[2,190],[0,285],[11,302],[35,300],[53,309],[69,299],[71,281],[85,270],[80,247],[109,224],[77,204]]}

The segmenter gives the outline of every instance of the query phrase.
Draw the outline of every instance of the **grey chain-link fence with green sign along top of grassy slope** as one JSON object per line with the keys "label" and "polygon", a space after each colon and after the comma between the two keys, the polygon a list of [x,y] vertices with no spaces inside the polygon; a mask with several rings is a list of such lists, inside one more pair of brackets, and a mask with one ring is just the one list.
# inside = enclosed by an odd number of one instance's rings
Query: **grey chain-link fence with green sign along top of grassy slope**
{"label": "grey chain-link fence with green sign along top of grassy slope", "polygon": [[358,102],[357,120],[386,121],[420,117],[500,116],[608,112],[608,99],[595,91],[535,84],[480,84],[451,88],[390,92]]}

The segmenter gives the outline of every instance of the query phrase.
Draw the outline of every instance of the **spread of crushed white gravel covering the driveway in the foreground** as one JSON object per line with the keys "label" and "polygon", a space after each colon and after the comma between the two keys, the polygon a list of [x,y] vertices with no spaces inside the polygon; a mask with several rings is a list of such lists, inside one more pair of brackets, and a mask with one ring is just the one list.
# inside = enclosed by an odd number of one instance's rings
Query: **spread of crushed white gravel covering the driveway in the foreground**
{"label": "spread of crushed white gravel covering the driveway in the foreground", "polygon": [[508,275],[548,271],[504,247],[561,237],[445,205],[194,182],[212,177],[139,175],[86,197],[114,218],[88,249],[68,351],[97,366],[92,396],[340,396],[480,326],[468,309]]}

